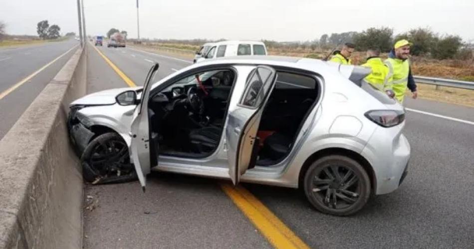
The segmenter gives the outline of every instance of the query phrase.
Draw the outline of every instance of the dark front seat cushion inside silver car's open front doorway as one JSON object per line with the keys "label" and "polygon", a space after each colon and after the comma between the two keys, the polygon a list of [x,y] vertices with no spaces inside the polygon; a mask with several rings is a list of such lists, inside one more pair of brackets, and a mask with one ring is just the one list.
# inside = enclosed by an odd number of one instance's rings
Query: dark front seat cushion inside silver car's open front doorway
{"label": "dark front seat cushion inside silver car's open front doorway", "polygon": [[211,126],[196,129],[189,133],[189,139],[199,152],[211,152],[219,145],[221,129]]}

